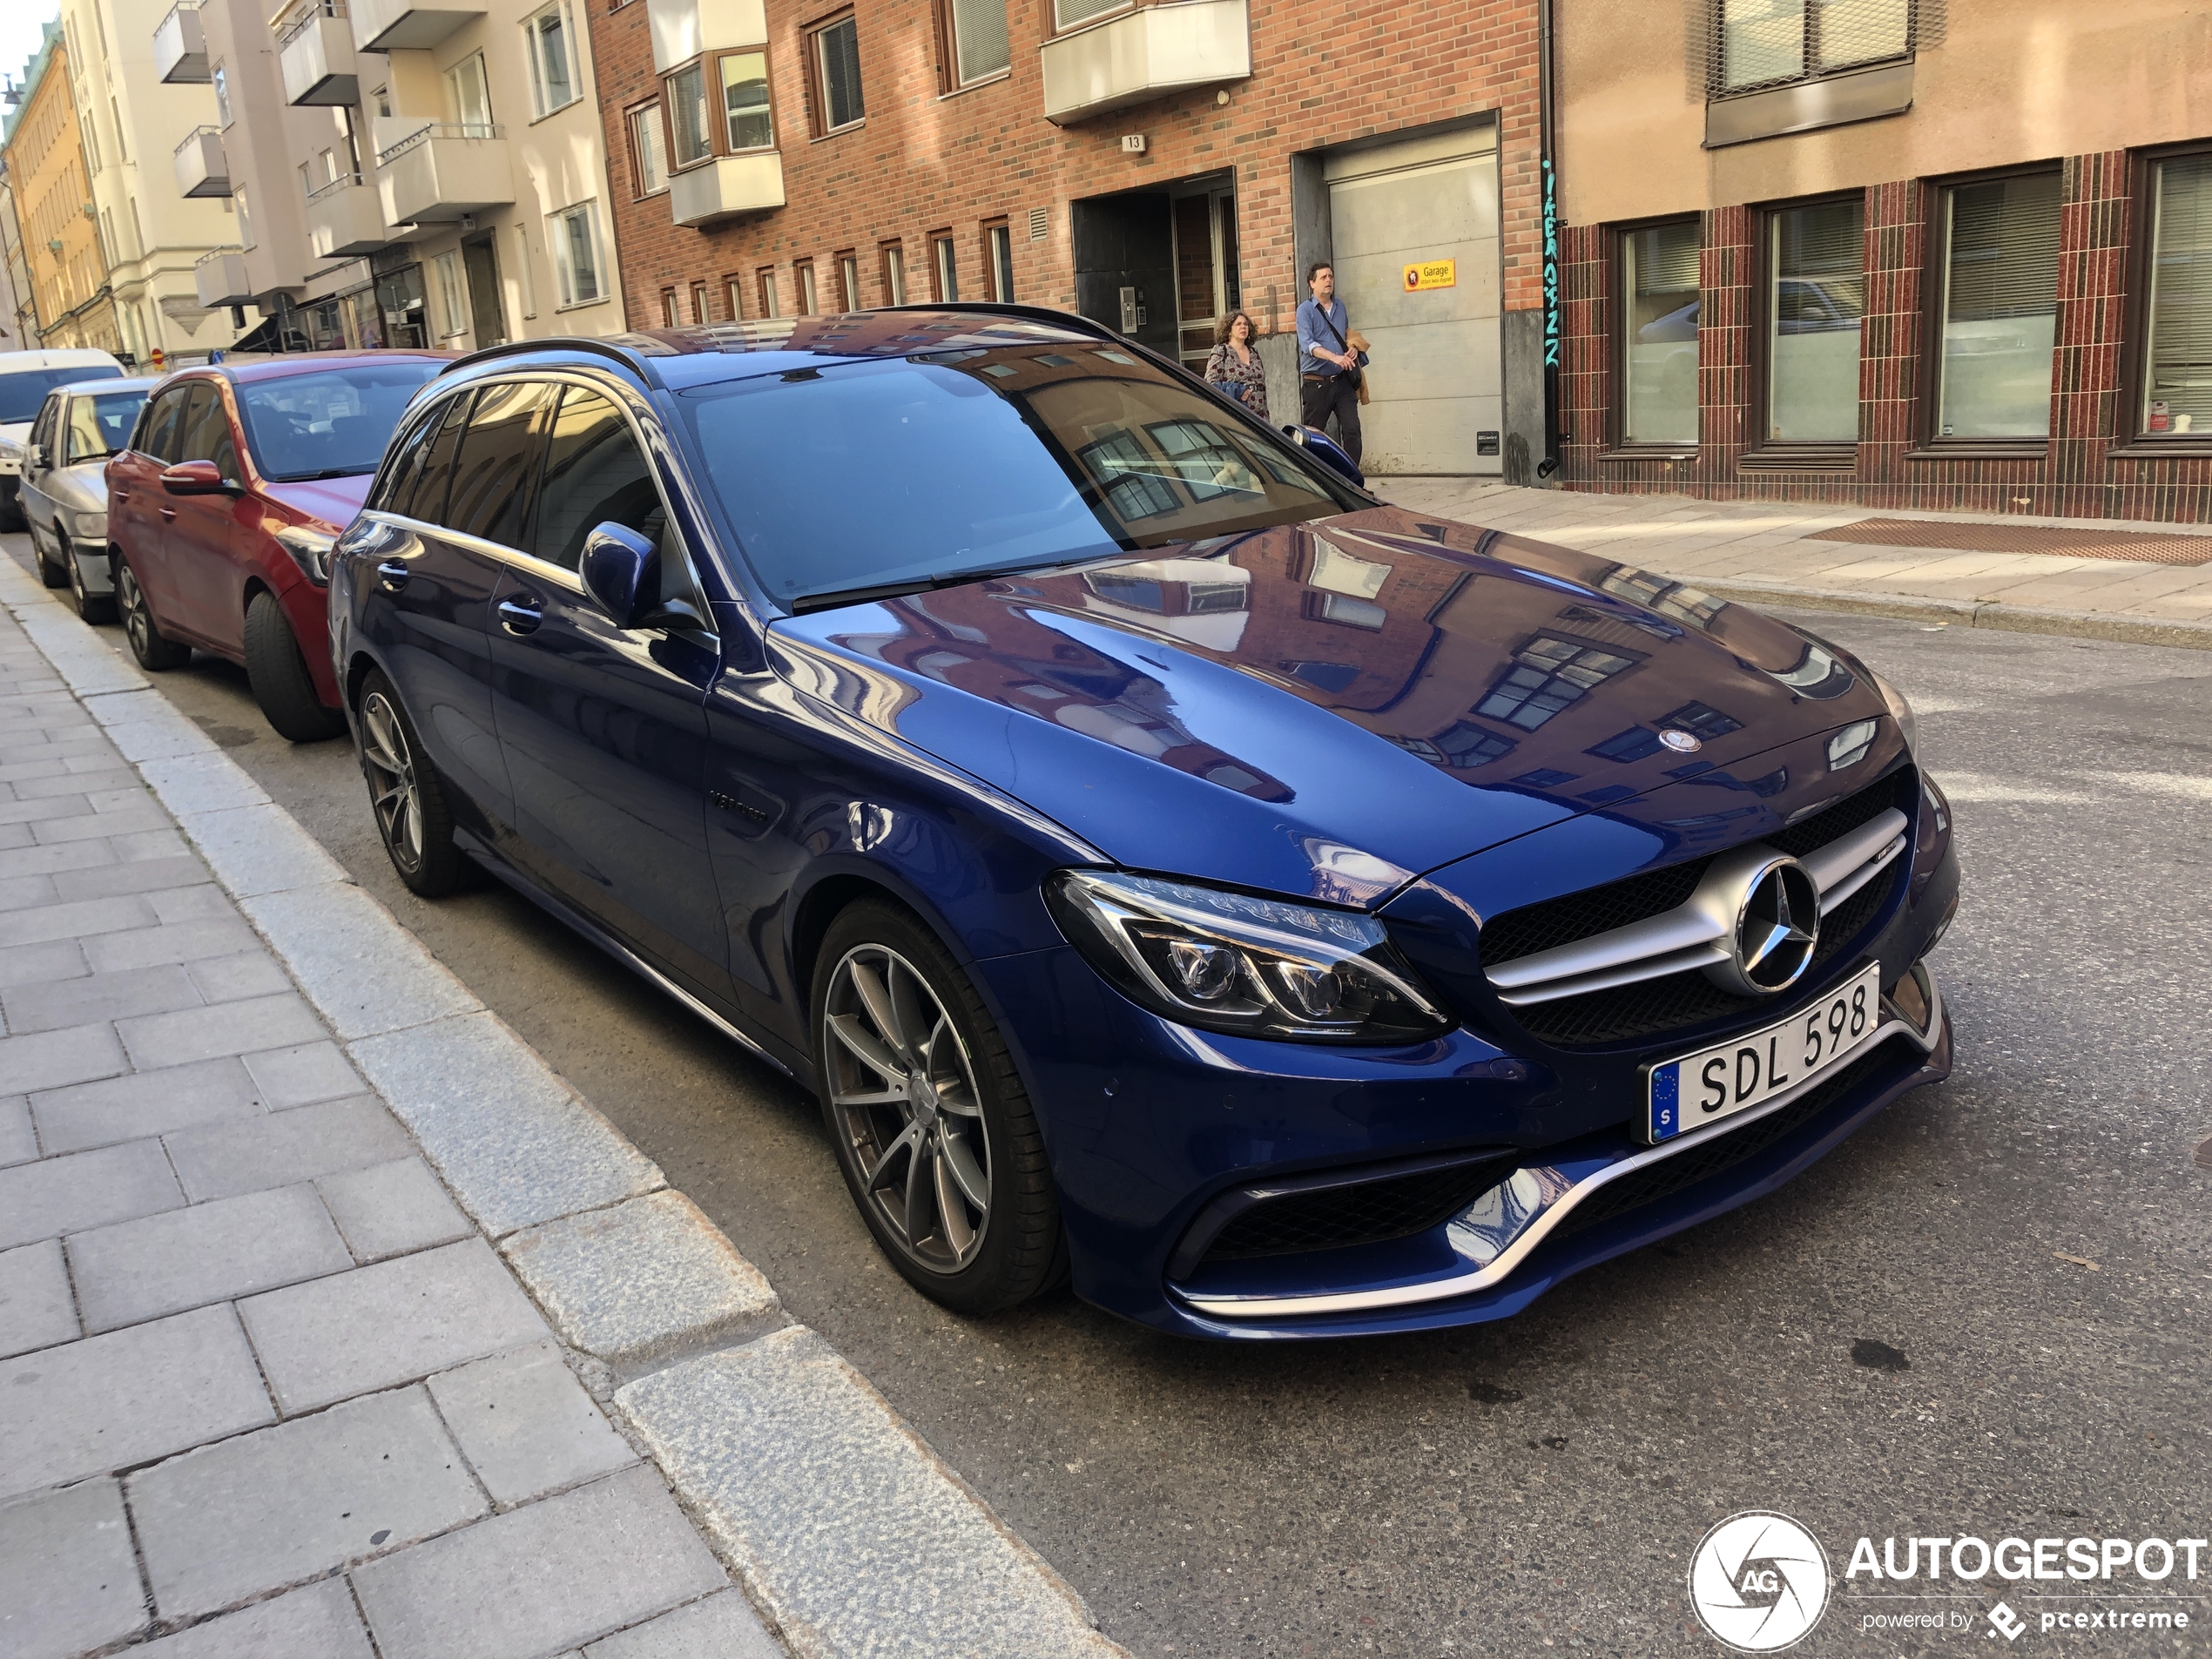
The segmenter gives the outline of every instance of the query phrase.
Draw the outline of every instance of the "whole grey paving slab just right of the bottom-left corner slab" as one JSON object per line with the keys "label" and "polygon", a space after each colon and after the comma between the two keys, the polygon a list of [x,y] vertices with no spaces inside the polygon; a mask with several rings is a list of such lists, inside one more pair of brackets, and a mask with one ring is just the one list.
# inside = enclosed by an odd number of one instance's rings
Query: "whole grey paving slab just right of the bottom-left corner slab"
{"label": "whole grey paving slab just right of the bottom-left corner slab", "polygon": [[164,1619],[301,1584],[491,1509],[418,1387],[199,1447],[131,1475],[126,1491]]}

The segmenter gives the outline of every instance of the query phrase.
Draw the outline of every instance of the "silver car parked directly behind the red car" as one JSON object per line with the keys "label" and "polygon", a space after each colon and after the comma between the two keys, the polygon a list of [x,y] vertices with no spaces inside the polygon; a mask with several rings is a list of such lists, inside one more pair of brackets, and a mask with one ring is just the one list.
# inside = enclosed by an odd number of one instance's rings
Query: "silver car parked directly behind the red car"
{"label": "silver car parked directly behind the red car", "polygon": [[131,442],[157,380],[73,380],[55,387],[22,451],[22,518],[38,573],[66,586],[86,622],[115,608],[108,566],[108,456]]}

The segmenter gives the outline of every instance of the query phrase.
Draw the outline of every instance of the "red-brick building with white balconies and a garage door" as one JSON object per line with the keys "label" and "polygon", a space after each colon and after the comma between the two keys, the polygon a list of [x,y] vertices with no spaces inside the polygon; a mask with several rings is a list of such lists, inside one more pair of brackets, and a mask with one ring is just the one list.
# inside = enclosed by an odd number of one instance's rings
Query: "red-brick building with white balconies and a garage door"
{"label": "red-brick building with white balconies and a garage door", "polygon": [[1203,361],[1329,257],[1376,471],[1542,451],[1535,0],[588,13],[633,327],[1015,299]]}

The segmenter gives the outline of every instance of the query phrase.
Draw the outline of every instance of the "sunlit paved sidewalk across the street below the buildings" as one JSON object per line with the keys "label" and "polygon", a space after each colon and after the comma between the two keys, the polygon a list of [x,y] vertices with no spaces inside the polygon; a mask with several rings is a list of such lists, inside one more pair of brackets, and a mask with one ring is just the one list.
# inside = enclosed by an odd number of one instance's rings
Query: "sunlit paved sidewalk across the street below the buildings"
{"label": "sunlit paved sidewalk across the street below the buildings", "polygon": [[1876,511],[1836,502],[1708,502],[1515,489],[1473,478],[1378,478],[1400,507],[1601,553],[1728,599],[1885,611],[2026,633],[2081,633],[2212,648],[2212,564],[1823,542],[1863,518],[1944,526],[2201,533],[2201,526],[2079,518]]}

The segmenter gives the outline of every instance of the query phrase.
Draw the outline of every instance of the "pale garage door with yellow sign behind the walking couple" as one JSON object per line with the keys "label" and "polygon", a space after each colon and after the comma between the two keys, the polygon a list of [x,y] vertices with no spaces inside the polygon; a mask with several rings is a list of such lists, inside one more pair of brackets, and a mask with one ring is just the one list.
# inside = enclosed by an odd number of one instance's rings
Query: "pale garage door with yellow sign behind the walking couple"
{"label": "pale garage door with yellow sign behind the walking couple", "polygon": [[1332,155],[1325,179],[1336,292],[1374,358],[1367,471],[1500,471],[1495,128]]}

